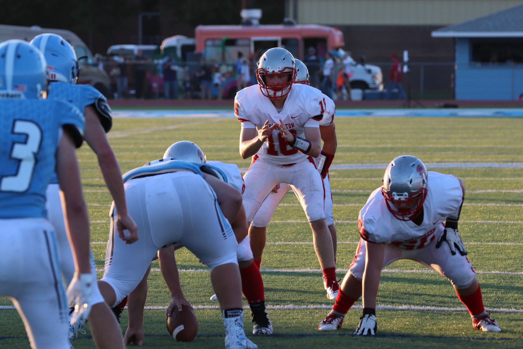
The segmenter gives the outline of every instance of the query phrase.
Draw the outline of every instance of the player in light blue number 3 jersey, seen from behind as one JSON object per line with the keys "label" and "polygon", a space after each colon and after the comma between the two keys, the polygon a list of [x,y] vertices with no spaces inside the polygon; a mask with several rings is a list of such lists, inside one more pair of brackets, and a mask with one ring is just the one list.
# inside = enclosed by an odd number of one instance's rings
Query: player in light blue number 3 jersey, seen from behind
{"label": "player in light blue number 3 jersey, seen from behind", "polygon": [[46,60],[26,41],[0,44],[0,296],[13,300],[33,349],[67,349],[67,299],[60,282],[46,189],[56,169],[75,270],[67,290],[72,321],[90,311],[89,219],[75,147],[84,118],[44,100]]}

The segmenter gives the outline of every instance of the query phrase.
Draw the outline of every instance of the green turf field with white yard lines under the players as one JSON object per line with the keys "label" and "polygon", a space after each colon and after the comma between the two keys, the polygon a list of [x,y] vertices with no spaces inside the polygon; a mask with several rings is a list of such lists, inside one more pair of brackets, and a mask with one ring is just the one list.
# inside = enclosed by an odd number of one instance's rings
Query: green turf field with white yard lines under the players
{"label": "green turf field with white yard lines under the players", "polygon": [[[523,120],[519,118],[338,118],[336,164],[388,163],[395,156],[411,154],[426,163],[523,162]],[[233,119],[115,119],[108,134],[120,161],[122,172],[162,157],[165,149],[180,140],[200,145],[208,160],[248,167],[249,160],[238,155],[240,125]],[[96,156],[84,143],[78,150],[82,168],[85,199],[89,205],[92,241],[108,238],[108,210],[111,198],[98,171]],[[521,168],[445,168],[437,171],[454,174],[464,180],[466,189],[521,190]],[[356,221],[371,190],[381,185],[383,170],[333,170],[334,216],[337,221]],[[345,190],[345,191],[344,191]],[[360,190],[354,192],[349,190]],[[274,220],[305,220],[294,195],[288,194],[275,212]],[[497,206],[495,206],[497,205]],[[467,193],[460,223],[460,234],[467,245],[469,260],[477,272],[520,273],[523,260],[522,193]],[[474,221],[496,221],[485,223]],[[512,223],[499,223],[512,222]],[[337,223],[337,268],[348,268],[358,241],[356,223]],[[312,234],[306,223],[270,223],[261,269],[268,306],[326,306],[321,273],[286,269],[319,269],[311,244]],[[280,242],[280,243],[275,243]],[[347,243],[351,242],[351,243]],[[501,244],[512,243],[512,244]],[[103,268],[105,245],[93,244],[97,267]],[[204,269],[187,250],[176,251],[180,269]],[[153,263],[158,268],[158,263]],[[424,267],[399,261],[389,266],[396,272],[382,274],[378,303],[391,307],[462,307],[450,283],[435,273],[422,273]],[[401,271],[410,271],[401,273]],[[416,272],[417,271],[417,272]],[[343,276],[339,272],[338,277]],[[102,272],[99,273],[101,277]],[[209,272],[181,272],[186,298],[195,306],[215,306]],[[478,273],[486,308],[523,309],[523,275]],[[160,272],[149,277],[147,307],[165,307],[170,298]],[[0,305],[11,306],[7,298]],[[245,305],[247,305],[245,303]],[[361,305],[357,302],[356,305]],[[294,307],[295,308],[295,307]],[[275,335],[251,339],[259,348],[319,348],[324,346],[361,348],[419,347],[492,347],[523,346],[523,313],[492,312],[501,325],[501,333],[482,333],[472,328],[466,311],[394,310],[377,311],[378,334],[373,338],[353,337],[361,310],[347,314],[343,328],[336,333],[320,333],[317,324],[327,309],[268,310]],[[0,309],[0,348],[29,347],[23,324],[13,309]],[[252,330],[249,311],[245,311],[246,332]],[[198,337],[191,343],[177,343],[165,329],[165,310],[146,310],[144,346],[151,348],[222,348],[223,325],[215,309],[196,310]],[[42,319],[45,321],[45,319]],[[127,311],[122,316],[122,331],[127,328]],[[73,341],[76,348],[94,348],[87,333]]]}

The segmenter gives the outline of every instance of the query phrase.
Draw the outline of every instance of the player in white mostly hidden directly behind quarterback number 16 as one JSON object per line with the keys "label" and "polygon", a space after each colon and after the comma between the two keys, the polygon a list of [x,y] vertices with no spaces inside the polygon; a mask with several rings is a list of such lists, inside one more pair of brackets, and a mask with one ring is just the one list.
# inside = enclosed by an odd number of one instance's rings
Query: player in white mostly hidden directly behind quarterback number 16
{"label": "player in white mostly hidden directly behind quarterback number 16", "polygon": [[[302,61],[295,59],[296,62],[296,81],[294,84],[306,84],[309,85],[309,71]],[[323,184],[325,186],[325,216],[328,230],[331,232],[334,257],[336,258],[336,227],[334,226],[334,216],[332,214],[332,194],[331,184],[329,183],[328,168],[331,166],[334,154],[336,153],[337,140],[336,140],[336,129],[334,125],[334,113],[336,106],[334,101],[326,95],[323,95],[325,102],[325,112],[323,119],[320,121],[320,135],[323,140],[323,148],[320,156],[316,157],[316,167],[320,171]],[[271,193],[267,196],[263,204],[256,212],[256,215],[251,222],[249,227],[249,235],[256,237],[257,240],[252,240],[251,245],[253,246],[253,255],[255,263],[260,265],[261,254],[265,247],[265,237],[267,226],[269,225],[270,218],[274,214],[276,206],[285,197],[285,194],[291,190],[289,184],[278,184],[272,189]],[[298,198],[299,199],[299,198]],[[328,294],[329,299],[335,299],[337,292],[334,291]]]}

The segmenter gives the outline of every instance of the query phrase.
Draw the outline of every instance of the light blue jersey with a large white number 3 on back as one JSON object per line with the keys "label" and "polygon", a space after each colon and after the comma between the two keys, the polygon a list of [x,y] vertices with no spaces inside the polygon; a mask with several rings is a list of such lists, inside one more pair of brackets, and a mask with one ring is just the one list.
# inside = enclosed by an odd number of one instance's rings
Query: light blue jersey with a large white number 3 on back
{"label": "light blue jersey with a large white number 3 on back", "polygon": [[64,100],[0,99],[0,218],[46,218],[61,129],[82,145],[83,113]]}

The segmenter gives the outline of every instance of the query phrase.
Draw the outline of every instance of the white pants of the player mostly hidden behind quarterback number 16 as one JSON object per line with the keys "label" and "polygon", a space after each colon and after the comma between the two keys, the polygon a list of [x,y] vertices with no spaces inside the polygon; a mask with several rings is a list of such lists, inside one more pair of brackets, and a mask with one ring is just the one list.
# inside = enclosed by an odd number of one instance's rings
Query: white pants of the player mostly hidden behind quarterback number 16
{"label": "white pants of the player mostly hidden behind quarterback number 16", "polygon": [[[331,224],[334,224],[334,216],[332,213],[331,184],[329,183],[328,175],[323,179],[323,184],[325,186],[325,222],[327,223],[327,226],[330,226]],[[289,190],[292,190],[292,188],[289,184],[286,183],[280,184],[278,193],[274,193],[271,190],[263,204],[261,204],[260,208],[256,212],[256,215],[254,215],[251,225],[256,228],[267,228],[272,215],[274,215],[276,207]]]}

